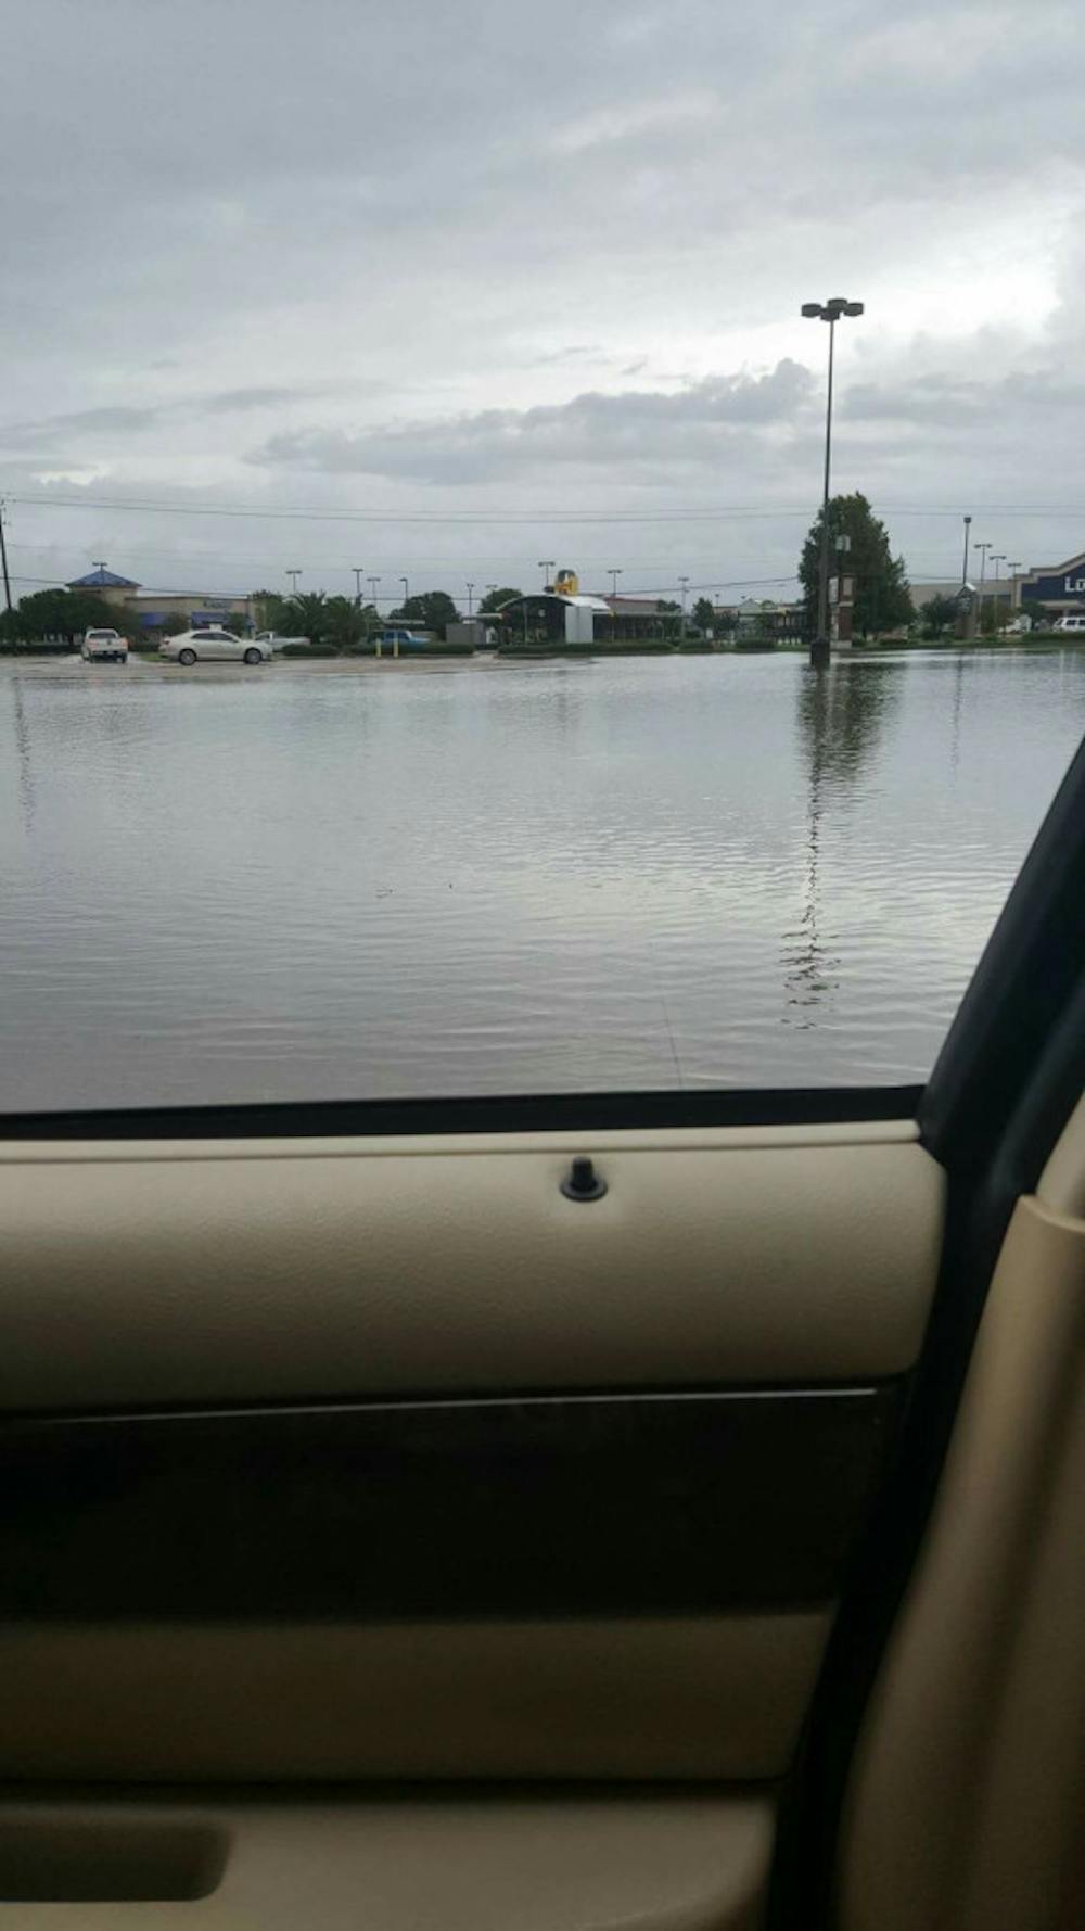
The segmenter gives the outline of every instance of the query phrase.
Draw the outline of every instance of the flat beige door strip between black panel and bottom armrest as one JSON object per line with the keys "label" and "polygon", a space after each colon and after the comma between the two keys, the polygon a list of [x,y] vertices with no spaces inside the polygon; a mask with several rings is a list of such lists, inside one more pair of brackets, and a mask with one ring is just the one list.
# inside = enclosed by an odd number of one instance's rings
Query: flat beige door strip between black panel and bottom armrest
{"label": "flat beige door strip between black panel and bottom armrest", "polygon": [[0,1630],[0,1778],[770,1778],[828,1610]]}

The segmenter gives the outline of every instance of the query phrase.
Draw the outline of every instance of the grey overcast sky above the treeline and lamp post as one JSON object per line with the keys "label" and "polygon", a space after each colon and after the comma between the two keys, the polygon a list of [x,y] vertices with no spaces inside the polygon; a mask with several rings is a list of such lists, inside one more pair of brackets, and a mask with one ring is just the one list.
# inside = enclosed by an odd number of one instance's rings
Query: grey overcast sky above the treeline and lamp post
{"label": "grey overcast sky above the treeline and lamp post", "polygon": [[834,481],[913,579],[965,510],[1085,548],[1071,4],[8,0],[4,35],[21,593],[104,558],[463,599],[554,558],[770,595],[836,294]]}

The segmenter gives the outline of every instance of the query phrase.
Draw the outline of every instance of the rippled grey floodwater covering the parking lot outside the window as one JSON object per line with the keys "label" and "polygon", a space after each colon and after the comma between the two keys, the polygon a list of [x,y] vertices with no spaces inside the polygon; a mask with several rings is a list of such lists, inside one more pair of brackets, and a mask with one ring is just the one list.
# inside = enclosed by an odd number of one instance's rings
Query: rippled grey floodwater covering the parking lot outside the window
{"label": "rippled grey floodwater covering the parking lot outside the window", "polygon": [[1085,653],[0,668],[0,1106],[923,1077]]}

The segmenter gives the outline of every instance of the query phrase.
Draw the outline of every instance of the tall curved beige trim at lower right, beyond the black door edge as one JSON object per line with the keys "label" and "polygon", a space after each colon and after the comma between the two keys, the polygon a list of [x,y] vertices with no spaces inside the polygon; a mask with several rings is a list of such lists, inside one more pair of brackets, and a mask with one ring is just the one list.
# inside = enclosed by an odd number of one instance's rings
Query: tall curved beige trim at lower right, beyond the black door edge
{"label": "tall curved beige trim at lower right, beyond the black door edge", "polygon": [[861,1736],[842,1931],[1085,1923],[1083,1497],[1085,1220],[1029,1197]]}

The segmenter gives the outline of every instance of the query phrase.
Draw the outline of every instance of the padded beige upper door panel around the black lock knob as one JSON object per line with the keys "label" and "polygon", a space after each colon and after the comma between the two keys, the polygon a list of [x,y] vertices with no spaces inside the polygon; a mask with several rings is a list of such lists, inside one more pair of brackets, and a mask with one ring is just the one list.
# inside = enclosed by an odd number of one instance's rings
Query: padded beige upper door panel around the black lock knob
{"label": "padded beige upper door panel around the black lock knob", "polygon": [[942,1226],[913,1139],[6,1147],[0,1408],[896,1375]]}

